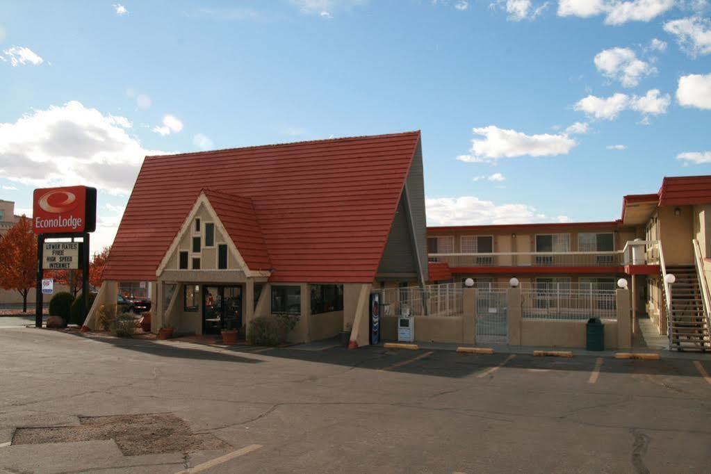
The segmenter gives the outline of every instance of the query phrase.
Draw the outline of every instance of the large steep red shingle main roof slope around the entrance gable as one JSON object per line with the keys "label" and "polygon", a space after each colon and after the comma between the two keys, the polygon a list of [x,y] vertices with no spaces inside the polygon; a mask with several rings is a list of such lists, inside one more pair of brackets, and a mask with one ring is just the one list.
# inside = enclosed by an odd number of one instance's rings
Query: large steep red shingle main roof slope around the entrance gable
{"label": "large steep red shingle main roof slope around the entrance gable", "polygon": [[188,211],[209,188],[252,200],[274,268],[270,281],[373,281],[418,143],[412,131],[147,156],[105,279],[155,280]]}

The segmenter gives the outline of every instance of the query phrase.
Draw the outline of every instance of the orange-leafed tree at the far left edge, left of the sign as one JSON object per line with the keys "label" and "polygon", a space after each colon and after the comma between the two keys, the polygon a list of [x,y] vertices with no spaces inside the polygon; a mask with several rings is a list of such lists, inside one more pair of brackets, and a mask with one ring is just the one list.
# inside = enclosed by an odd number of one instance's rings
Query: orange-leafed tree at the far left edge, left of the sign
{"label": "orange-leafed tree at the far left edge, left of the sign", "polygon": [[27,312],[27,295],[36,285],[37,236],[25,217],[0,239],[0,286],[22,295],[22,311]]}

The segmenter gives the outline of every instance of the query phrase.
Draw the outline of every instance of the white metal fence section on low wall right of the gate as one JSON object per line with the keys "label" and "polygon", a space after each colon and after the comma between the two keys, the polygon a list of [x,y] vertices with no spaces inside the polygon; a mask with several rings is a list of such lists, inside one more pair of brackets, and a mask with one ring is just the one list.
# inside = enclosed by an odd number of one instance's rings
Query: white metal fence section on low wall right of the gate
{"label": "white metal fence section on low wall right of the gate", "polygon": [[614,284],[538,284],[521,289],[523,318],[584,321],[617,319]]}

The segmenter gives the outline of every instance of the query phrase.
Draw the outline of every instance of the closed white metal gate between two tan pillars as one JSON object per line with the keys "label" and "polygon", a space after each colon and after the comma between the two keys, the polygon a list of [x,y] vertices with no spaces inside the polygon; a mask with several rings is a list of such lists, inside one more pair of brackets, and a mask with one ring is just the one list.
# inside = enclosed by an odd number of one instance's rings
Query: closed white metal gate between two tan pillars
{"label": "closed white metal gate between two tan pillars", "polygon": [[476,291],[476,343],[508,342],[506,289]]}

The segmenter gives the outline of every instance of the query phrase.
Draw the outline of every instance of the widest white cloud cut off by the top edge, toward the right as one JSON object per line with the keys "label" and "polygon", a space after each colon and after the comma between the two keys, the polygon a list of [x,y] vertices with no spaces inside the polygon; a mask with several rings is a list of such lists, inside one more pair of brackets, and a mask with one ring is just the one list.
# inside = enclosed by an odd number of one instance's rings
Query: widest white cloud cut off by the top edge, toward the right
{"label": "widest white cloud cut off by the top edge, toward the right", "polygon": [[558,16],[589,18],[604,14],[607,25],[650,21],[670,10],[674,0],[560,0]]}

